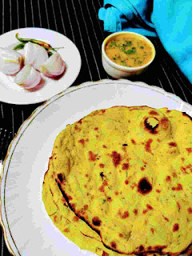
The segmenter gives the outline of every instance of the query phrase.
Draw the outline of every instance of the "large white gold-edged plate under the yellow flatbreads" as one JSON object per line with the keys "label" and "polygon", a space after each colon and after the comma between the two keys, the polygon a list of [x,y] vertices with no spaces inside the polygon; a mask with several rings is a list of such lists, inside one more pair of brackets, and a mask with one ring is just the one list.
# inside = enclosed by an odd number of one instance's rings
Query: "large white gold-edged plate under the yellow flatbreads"
{"label": "large white gold-edged plate under the yellow flatbreads", "polygon": [[110,106],[168,107],[192,116],[192,106],[143,82],[103,80],[70,87],[39,106],[11,142],[2,174],[2,223],[15,255],[94,255],[70,242],[42,203],[42,182],[57,134],[91,111]]}

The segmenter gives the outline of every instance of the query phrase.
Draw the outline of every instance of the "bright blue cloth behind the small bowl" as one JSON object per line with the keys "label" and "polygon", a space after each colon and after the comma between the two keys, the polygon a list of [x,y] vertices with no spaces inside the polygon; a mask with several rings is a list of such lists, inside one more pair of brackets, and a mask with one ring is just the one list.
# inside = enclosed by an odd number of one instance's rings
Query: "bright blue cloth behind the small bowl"
{"label": "bright blue cloth behind the small bowl", "polygon": [[192,0],[104,0],[98,18],[108,32],[158,36],[192,82]]}

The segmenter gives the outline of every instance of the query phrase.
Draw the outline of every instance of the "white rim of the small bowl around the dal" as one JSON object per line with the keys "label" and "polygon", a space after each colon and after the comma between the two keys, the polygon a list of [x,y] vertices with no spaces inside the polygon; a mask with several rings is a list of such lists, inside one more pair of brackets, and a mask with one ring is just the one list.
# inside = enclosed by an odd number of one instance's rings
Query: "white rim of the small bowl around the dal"
{"label": "white rim of the small bowl around the dal", "polygon": [[[114,36],[116,36],[118,34],[135,34],[138,37],[143,38],[144,40],[146,40],[146,42],[148,42],[150,44],[150,46],[153,48],[153,52],[154,52],[154,56],[153,56],[153,58],[151,58],[150,62],[147,62],[146,65],[137,66],[137,67],[121,66],[121,65],[118,65],[118,64],[112,62],[110,60],[110,58],[108,58],[108,56],[106,55],[105,46],[106,46],[106,42],[108,42],[110,40],[110,38],[114,38]],[[108,64],[110,64],[110,66],[113,66],[116,70],[137,71],[137,70],[145,69],[146,66],[149,66],[150,63],[154,61],[156,51],[155,51],[155,48],[154,48],[154,44],[152,42],[150,42],[150,39],[146,38],[144,35],[138,34],[138,33],[135,33],[135,32],[130,32],[130,31],[121,31],[121,32],[115,32],[113,34],[110,34],[108,37],[106,37],[104,39],[104,41],[102,42],[102,54],[103,54],[103,57],[106,59],[106,62],[108,62]]]}

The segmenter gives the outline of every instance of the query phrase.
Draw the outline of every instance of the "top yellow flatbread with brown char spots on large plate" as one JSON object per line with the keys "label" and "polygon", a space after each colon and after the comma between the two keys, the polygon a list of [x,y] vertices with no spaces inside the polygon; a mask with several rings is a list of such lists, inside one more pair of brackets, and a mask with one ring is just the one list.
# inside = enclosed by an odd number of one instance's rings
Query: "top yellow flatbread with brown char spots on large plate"
{"label": "top yellow flatbread with brown char spots on large plate", "polygon": [[66,126],[48,172],[111,252],[178,255],[192,241],[191,159],[189,116],[116,106]]}

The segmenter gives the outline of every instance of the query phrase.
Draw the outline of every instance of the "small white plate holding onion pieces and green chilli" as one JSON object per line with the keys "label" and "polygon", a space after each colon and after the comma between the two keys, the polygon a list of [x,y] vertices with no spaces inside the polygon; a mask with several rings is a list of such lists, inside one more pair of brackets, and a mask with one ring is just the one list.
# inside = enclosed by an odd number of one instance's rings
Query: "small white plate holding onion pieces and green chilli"
{"label": "small white plate holding onion pieces and green chilli", "polygon": [[19,38],[34,38],[48,42],[54,48],[64,47],[57,51],[66,63],[66,71],[58,80],[46,78],[42,75],[45,83],[43,86],[37,86],[37,90],[33,91],[25,90],[18,86],[14,83],[12,76],[7,76],[0,72],[0,101],[14,104],[44,102],[73,84],[74,80],[78,77],[82,65],[81,56],[74,42],[56,31],[31,27],[11,30],[6,34],[2,34],[0,36],[0,47],[13,49],[13,46],[19,44],[20,42],[15,38],[16,33],[18,33]]}

